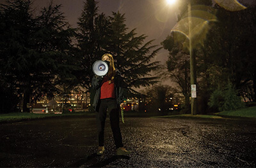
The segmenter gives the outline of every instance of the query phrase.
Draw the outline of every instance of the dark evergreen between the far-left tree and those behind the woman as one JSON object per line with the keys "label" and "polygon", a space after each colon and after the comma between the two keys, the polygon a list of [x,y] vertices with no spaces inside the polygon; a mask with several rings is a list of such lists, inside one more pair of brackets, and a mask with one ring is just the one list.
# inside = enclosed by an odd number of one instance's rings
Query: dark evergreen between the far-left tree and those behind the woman
{"label": "dark evergreen between the far-left tree and those behind the woman", "polygon": [[[48,93],[45,90],[48,97],[52,97],[56,92],[68,92],[76,87],[79,81],[75,74],[81,69],[74,54],[76,48],[72,44],[75,29],[70,27],[60,8],[61,5],[54,6],[50,3],[47,8],[42,8],[36,18],[40,27],[35,32],[35,50],[40,54],[38,63],[45,67],[43,71],[48,73],[46,78],[51,78],[46,86],[52,90]],[[44,83],[44,80],[40,83]],[[37,95],[40,95],[39,93]]]}

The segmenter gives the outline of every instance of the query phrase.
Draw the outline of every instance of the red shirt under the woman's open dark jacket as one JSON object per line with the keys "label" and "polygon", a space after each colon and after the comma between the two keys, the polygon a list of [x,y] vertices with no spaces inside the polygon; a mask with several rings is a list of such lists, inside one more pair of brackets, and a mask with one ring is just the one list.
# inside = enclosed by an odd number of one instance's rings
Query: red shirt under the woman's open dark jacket
{"label": "red shirt under the woman's open dark jacket", "polygon": [[109,83],[108,78],[104,77],[100,88],[100,99],[116,98],[115,96],[115,83],[111,80]]}

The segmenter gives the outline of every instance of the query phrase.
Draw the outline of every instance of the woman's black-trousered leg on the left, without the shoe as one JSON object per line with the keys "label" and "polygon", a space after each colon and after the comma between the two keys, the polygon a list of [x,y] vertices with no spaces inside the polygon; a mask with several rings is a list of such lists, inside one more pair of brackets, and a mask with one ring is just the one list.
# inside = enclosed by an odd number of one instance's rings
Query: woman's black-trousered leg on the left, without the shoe
{"label": "woman's black-trousered leg on the left, without the shoe", "polygon": [[99,112],[96,112],[99,146],[104,146],[104,127],[107,115],[106,100],[100,100]]}

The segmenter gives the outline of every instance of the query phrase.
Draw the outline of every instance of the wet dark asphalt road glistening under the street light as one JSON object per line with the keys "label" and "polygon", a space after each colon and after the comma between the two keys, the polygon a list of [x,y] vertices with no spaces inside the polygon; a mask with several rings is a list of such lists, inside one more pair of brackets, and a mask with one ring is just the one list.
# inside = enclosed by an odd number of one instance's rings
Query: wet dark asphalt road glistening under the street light
{"label": "wet dark asphalt road glistening under the street light", "polygon": [[234,119],[125,118],[129,157],[117,157],[106,122],[97,156],[95,118],[0,124],[0,167],[256,167],[256,122]]}

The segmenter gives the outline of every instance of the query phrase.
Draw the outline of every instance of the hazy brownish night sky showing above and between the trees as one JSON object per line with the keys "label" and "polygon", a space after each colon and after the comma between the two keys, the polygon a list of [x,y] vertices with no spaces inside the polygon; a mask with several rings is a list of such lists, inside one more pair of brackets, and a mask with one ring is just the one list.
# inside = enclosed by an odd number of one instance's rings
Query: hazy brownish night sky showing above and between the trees
{"label": "hazy brownish night sky showing above and between the trees", "polygon": [[[47,6],[50,0],[35,0],[34,6],[40,10]],[[155,39],[152,45],[159,45],[176,24],[177,5],[168,6],[165,0],[98,0],[99,13],[112,15],[112,11],[125,13],[125,24],[132,30],[136,28],[138,36],[145,34],[145,42]],[[62,4],[61,10],[65,13],[72,27],[77,27],[77,21],[83,10],[83,0],[54,0],[54,4]],[[168,59],[168,52],[161,50],[156,57],[162,64]]]}

